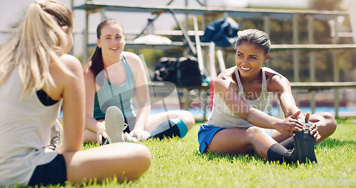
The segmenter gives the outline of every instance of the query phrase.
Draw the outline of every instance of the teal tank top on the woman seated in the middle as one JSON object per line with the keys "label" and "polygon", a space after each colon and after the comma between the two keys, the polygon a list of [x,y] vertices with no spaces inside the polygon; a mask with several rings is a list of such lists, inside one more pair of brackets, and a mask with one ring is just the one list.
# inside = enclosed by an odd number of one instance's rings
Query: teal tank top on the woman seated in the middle
{"label": "teal tank top on the woman seated in the middle", "polygon": [[132,96],[135,93],[135,78],[124,56],[120,55],[124,63],[126,82],[122,85],[112,85],[101,71],[95,78],[100,89],[95,93],[94,118],[104,120],[106,110],[115,105],[122,111],[125,118],[136,117],[135,107],[132,105]]}

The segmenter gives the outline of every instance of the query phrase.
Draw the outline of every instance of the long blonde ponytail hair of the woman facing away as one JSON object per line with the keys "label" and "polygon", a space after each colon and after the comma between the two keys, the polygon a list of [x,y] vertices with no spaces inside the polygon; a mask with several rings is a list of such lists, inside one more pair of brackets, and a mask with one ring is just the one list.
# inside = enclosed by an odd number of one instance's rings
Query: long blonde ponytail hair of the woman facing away
{"label": "long blonde ponytail hair of the woman facing away", "polygon": [[68,71],[59,59],[67,45],[67,34],[62,26],[73,27],[73,14],[64,4],[55,0],[31,4],[19,31],[0,51],[0,84],[17,66],[23,85],[21,97],[44,85],[54,86],[49,71],[51,63]]}

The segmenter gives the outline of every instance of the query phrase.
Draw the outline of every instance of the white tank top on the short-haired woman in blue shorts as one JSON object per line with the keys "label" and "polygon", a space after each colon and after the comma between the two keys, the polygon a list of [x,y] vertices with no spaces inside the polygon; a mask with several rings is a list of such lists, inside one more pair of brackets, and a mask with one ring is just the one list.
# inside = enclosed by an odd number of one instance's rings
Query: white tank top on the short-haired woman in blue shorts
{"label": "white tank top on the short-haired woman in blue shorts", "polygon": [[[266,83],[266,74],[265,68],[262,69],[262,91],[261,95],[255,100],[247,100],[244,95],[244,88],[242,87],[240,75],[237,67],[235,68],[235,74],[237,83],[239,85],[239,93],[238,95],[241,98],[244,98],[248,103],[250,103],[253,108],[264,111],[268,108],[270,103],[270,95],[271,93],[267,90]],[[251,127],[254,126],[246,120],[242,119],[239,115],[236,115],[233,111],[231,111],[227,105],[224,103],[222,98],[214,93],[213,99],[213,109],[211,110],[210,116],[208,118],[208,125],[214,125],[216,127]]]}

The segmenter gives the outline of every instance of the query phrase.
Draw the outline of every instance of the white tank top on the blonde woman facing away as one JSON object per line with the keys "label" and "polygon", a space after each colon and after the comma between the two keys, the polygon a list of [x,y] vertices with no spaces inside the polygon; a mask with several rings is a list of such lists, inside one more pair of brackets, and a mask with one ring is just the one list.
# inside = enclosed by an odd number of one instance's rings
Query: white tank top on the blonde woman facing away
{"label": "white tank top on the blonde woman facing away", "polygon": [[0,187],[27,185],[38,165],[58,155],[47,146],[61,101],[45,106],[35,90],[20,100],[22,90],[19,70],[14,68],[0,85]]}

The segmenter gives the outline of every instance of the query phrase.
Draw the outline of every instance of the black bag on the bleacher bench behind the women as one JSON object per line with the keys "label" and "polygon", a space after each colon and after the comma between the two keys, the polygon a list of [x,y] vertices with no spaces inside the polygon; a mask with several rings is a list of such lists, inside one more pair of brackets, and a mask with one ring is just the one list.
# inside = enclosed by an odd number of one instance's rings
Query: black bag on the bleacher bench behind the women
{"label": "black bag on the bleacher bench behind the women", "polygon": [[168,81],[181,87],[200,86],[203,78],[200,74],[197,58],[188,56],[179,58],[161,58],[156,66],[153,80]]}

